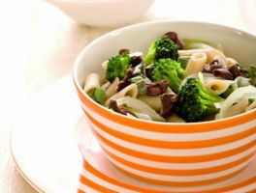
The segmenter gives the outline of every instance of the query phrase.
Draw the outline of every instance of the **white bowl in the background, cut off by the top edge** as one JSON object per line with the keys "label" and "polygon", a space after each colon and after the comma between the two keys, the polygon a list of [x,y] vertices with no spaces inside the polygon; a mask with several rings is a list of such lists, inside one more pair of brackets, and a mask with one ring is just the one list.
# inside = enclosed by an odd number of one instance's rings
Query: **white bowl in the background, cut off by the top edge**
{"label": "white bowl in the background, cut off by the top edge", "polygon": [[154,0],[47,0],[78,22],[91,26],[127,24],[151,6]]}

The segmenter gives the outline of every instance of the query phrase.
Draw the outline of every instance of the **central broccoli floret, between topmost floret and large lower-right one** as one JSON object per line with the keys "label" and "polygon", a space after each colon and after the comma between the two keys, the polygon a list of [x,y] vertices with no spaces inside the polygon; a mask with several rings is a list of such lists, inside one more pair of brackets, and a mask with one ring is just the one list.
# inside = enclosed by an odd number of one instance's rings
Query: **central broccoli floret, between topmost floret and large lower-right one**
{"label": "central broccoli floret, between topmost floret and large lower-right one", "polygon": [[180,63],[172,59],[160,59],[154,65],[150,78],[153,81],[167,80],[169,87],[177,93],[183,73],[184,69],[181,68]]}

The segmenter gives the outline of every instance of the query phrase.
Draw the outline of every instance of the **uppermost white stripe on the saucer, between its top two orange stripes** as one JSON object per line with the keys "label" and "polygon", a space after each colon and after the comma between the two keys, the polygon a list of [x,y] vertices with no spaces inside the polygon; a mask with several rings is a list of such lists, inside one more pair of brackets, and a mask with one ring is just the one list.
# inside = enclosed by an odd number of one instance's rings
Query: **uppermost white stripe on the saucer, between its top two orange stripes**
{"label": "uppermost white stripe on the saucer, between its top two orange stripes", "polygon": [[91,181],[93,181],[97,184],[102,185],[103,187],[107,187],[107,188],[109,188],[113,191],[116,191],[116,192],[137,193],[137,191],[133,191],[133,190],[130,190],[130,189],[127,189],[127,188],[123,188],[123,187],[115,185],[111,182],[108,182],[104,179],[100,179],[100,178],[96,177],[95,175],[89,173],[87,170],[82,170],[81,175],[86,179],[89,179],[89,180],[91,180]]}

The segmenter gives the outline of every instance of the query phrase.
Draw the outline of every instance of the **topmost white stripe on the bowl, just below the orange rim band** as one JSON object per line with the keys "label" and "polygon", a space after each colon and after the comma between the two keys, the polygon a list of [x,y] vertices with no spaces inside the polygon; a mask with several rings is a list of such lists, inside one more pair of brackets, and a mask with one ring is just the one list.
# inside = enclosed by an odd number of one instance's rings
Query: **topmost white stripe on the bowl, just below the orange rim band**
{"label": "topmost white stripe on the bowl, just below the orange rim band", "polygon": [[[137,129],[129,126],[125,126],[123,124],[117,124],[109,119],[106,119],[99,114],[93,112],[91,109],[87,108],[84,104],[82,104],[84,110],[89,113],[92,118],[97,118],[97,121],[110,126],[112,129],[121,131],[126,134],[130,134],[133,136],[143,136],[146,139],[153,139],[153,140],[164,140],[164,141],[199,141],[199,140],[208,140],[208,139],[215,139],[220,137],[226,137],[229,135],[234,135],[245,131],[253,126],[256,125],[256,120],[252,120],[245,124],[239,124],[237,126],[228,127],[225,129],[218,129],[214,131],[208,132],[200,132],[200,133],[161,133],[161,132],[153,132],[153,131],[146,131],[143,129]],[[207,126],[207,125],[206,125]]]}

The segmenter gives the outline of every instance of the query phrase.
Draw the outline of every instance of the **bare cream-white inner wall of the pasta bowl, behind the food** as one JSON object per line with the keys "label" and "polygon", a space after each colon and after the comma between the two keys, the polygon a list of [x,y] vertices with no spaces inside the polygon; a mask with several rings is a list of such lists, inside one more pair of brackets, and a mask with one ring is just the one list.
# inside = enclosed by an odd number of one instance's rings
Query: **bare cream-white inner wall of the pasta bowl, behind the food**
{"label": "bare cream-white inner wall of the pasta bowl, behind the food", "polygon": [[256,63],[256,37],[230,27],[200,23],[156,21],[137,24],[113,31],[92,41],[80,53],[75,65],[75,80],[83,84],[91,72],[103,74],[101,64],[116,55],[120,48],[143,51],[151,41],[169,31],[175,31],[180,39],[202,39],[219,43],[225,55],[236,59],[246,67]]}

